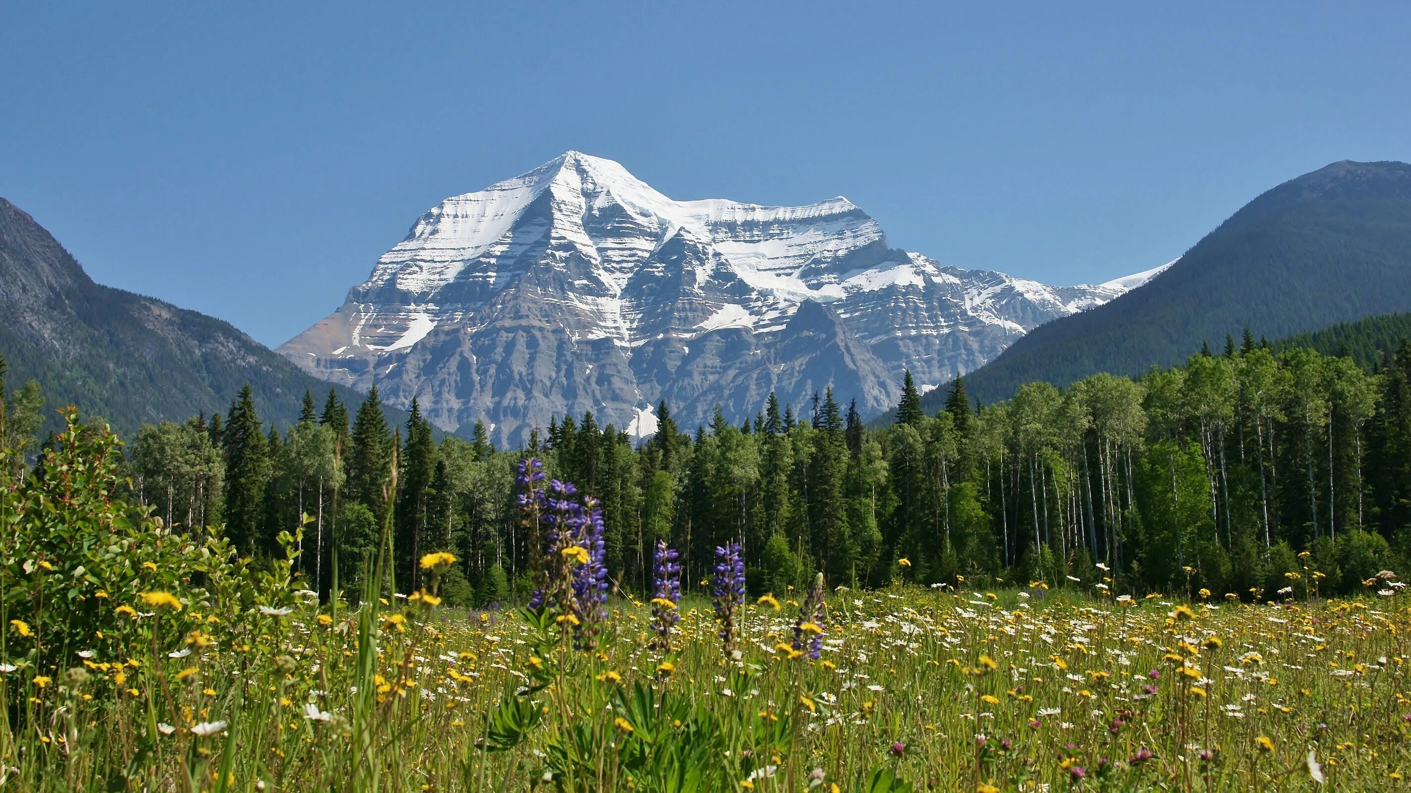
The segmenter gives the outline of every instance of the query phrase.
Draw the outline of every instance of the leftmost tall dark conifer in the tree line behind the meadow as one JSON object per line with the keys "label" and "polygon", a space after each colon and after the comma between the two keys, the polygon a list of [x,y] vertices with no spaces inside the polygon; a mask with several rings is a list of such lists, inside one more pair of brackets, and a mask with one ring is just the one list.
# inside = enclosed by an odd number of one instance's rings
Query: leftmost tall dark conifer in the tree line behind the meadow
{"label": "leftmost tall dark conifer in the tree line behind the meadow", "polygon": [[230,405],[230,423],[222,440],[226,450],[226,535],[240,555],[253,556],[255,550],[265,550],[267,538],[260,533],[270,460],[268,442],[248,384]]}

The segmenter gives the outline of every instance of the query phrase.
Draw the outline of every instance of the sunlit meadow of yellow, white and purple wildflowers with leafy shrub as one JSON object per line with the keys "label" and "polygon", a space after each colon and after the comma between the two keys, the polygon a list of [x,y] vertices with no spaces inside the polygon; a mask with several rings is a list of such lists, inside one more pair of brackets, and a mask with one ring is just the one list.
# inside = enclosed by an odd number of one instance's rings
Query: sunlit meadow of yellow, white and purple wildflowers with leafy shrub
{"label": "sunlit meadow of yellow, white and purple wildflowers with leafy shrub", "polygon": [[821,574],[748,597],[738,545],[683,581],[663,540],[638,595],[591,495],[523,460],[528,603],[444,604],[449,552],[402,591],[385,547],[360,597],[320,600],[293,571],[302,528],[265,564],[172,532],[117,495],[116,450],[71,422],[0,501],[0,789],[1405,786],[1390,570],[1331,601],[1316,570],[1188,601]]}

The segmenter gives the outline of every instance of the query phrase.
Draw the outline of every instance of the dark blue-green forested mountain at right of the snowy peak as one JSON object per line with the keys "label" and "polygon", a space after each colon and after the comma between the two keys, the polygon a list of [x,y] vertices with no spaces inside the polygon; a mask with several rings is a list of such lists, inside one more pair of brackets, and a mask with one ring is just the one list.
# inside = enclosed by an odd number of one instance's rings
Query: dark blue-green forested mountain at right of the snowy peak
{"label": "dark blue-green forested mountain at right of the snowy peak", "polygon": [[[965,375],[985,402],[1030,381],[1140,374],[1247,326],[1278,339],[1411,310],[1411,165],[1335,162],[1260,195],[1164,272],[1036,327]],[[923,399],[927,409],[944,392]]]}

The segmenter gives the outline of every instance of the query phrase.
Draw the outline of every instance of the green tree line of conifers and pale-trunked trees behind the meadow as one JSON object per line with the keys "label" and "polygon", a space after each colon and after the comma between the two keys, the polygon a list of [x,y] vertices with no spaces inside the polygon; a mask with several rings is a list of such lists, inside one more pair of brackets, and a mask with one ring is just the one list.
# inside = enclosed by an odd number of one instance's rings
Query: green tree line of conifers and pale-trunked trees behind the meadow
{"label": "green tree line of conifers and pale-trunked trees behind the meadow", "polygon": [[[0,396],[4,395],[0,384]],[[224,415],[147,425],[127,446],[137,498],[175,529],[224,523],[244,556],[303,523],[299,573],[327,595],[358,586],[385,546],[396,591],[415,560],[450,550],[449,603],[523,598],[528,532],[515,466],[601,500],[614,586],[650,587],[658,540],[700,586],[714,549],[739,543],[753,588],[962,579],[1129,593],[1346,593],[1411,557],[1411,346],[1373,368],[1247,334],[1223,353],[1139,378],[1099,374],[972,402],[958,378],[921,408],[910,373],[896,420],[869,429],[831,389],[800,406],[770,395],[739,425],[717,411],[684,432],[658,406],[634,443],[588,412],[552,420],[522,449],[483,425],[439,442],[413,401],[391,426],[374,388],[356,413],[306,394],[284,432],[250,388]],[[38,422],[38,387],[11,398],[11,435]],[[6,415],[0,405],[0,416]]]}

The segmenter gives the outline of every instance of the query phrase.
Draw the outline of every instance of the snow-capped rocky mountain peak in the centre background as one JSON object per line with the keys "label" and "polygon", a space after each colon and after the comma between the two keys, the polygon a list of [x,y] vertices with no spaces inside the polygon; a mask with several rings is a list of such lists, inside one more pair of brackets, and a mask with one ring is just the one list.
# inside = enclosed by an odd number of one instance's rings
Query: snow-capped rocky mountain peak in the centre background
{"label": "snow-capped rocky mountain peak in the centre background", "polygon": [[844,198],[677,202],[570,151],[433,207],[279,351],[501,443],[584,411],[649,435],[660,399],[682,426],[715,405],[739,423],[770,389],[801,406],[831,385],[872,415],[903,368],[948,381],[1160,270],[1096,286],[961,270],[889,248]]}

